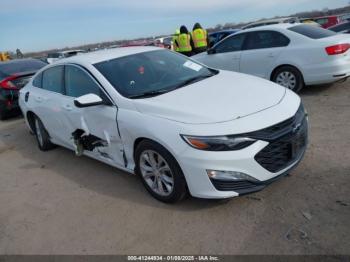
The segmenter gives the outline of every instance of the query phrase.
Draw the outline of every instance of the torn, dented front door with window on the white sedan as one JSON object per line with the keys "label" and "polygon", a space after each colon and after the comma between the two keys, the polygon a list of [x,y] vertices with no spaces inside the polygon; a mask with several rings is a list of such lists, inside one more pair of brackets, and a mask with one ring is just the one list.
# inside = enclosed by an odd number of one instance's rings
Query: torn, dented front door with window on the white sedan
{"label": "torn, dented front door with window on the white sedan", "polygon": [[[65,66],[66,96],[62,101],[68,143],[76,153],[96,157],[112,165],[124,166],[123,144],[118,132],[118,108],[89,73],[76,65]],[[100,96],[104,105],[78,108],[77,97]]]}

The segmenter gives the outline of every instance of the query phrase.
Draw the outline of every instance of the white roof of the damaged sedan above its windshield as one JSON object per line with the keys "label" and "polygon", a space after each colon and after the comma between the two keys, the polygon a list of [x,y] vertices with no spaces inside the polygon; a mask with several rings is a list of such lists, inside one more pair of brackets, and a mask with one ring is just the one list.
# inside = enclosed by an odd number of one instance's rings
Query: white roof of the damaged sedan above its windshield
{"label": "white roof of the damaged sedan above its windshield", "polygon": [[95,63],[99,63],[110,59],[115,59],[123,56],[134,55],[134,54],[155,51],[155,50],[164,50],[164,49],[159,47],[151,47],[151,46],[119,47],[119,48],[99,50],[99,51],[81,54],[78,56],[64,58],[55,62],[55,64],[61,64],[66,62],[95,64]]}

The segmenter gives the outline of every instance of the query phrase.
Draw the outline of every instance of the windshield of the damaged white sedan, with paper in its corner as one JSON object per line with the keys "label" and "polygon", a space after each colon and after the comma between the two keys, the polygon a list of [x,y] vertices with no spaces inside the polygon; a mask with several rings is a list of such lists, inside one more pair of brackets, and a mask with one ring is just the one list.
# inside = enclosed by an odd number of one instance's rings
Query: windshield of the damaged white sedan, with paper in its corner
{"label": "windshield of the damaged white sedan, with paper in its corner", "polygon": [[160,95],[218,73],[167,50],[125,56],[94,66],[128,98]]}

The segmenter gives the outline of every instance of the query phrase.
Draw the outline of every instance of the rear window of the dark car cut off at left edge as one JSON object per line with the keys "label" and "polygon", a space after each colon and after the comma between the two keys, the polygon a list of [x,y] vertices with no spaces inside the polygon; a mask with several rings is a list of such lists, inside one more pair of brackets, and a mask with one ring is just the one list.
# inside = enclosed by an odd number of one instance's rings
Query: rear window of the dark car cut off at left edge
{"label": "rear window of the dark car cut off at left edge", "polygon": [[0,77],[5,78],[16,73],[38,71],[40,68],[46,66],[42,61],[39,60],[18,60],[10,61],[0,64]]}

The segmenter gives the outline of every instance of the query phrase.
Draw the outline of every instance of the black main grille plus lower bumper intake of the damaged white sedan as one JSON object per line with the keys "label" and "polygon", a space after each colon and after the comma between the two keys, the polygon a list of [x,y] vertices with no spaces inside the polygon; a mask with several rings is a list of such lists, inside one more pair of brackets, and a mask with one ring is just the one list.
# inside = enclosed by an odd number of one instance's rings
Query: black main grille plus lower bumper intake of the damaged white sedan
{"label": "black main grille plus lower bumper intake of the damaged white sedan", "polygon": [[[268,184],[288,174],[293,163],[299,161],[307,146],[308,126],[303,105],[297,113],[274,126],[246,133],[245,136],[263,140],[269,144],[255,155],[255,160],[266,170],[277,173],[286,169],[282,174],[267,181],[228,181],[210,179],[213,186],[219,191],[235,191],[240,195],[263,189]],[[288,169],[287,169],[288,168]]]}

